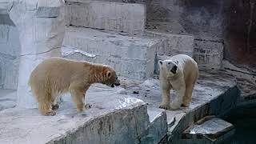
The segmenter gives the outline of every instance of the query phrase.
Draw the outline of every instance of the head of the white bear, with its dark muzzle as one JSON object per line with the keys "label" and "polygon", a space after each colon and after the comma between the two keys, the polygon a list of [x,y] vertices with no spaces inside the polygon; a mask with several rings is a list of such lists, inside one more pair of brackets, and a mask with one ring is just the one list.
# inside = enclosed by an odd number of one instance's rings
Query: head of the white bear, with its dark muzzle
{"label": "head of the white bear, with its dark muzzle", "polygon": [[174,60],[164,60],[164,61],[158,61],[158,65],[160,68],[160,71],[166,74],[167,77],[171,78],[174,77],[175,74],[177,74],[178,70],[178,61]]}

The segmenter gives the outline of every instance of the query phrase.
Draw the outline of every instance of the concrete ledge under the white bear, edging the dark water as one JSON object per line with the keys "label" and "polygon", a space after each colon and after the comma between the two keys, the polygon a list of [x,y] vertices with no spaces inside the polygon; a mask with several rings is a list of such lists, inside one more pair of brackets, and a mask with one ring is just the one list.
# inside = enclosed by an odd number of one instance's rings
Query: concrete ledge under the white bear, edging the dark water
{"label": "concrete ledge under the white bear, edging the dark water", "polygon": [[[234,77],[225,71],[216,70],[210,73],[200,71],[199,74],[190,106],[180,110],[166,110],[168,142],[178,142],[188,126],[206,115],[222,116],[235,106],[239,92]],[[159,82],[156,79],[131,86],[127,90],[128,94],[146,102],[149,108],[157,109],[162,102]],[[174,91],[171,91],[170,97],[175,97]]]}

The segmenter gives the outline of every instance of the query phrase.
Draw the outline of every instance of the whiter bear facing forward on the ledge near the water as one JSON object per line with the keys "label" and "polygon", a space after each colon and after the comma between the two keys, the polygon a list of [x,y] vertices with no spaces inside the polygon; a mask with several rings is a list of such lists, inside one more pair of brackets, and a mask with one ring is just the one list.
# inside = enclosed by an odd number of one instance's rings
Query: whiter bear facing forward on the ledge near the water
{"label": "whiter bear facing forward on the ledge near the water", "polygon": [[[194,84],[198,78],[198,64],[185,54],[174,55],[168,60],[159,61],[160,86],[162,91],[162,109],[175,110],[180,106],[189,106]],[[170,90],[177,97],[170,102]]]}

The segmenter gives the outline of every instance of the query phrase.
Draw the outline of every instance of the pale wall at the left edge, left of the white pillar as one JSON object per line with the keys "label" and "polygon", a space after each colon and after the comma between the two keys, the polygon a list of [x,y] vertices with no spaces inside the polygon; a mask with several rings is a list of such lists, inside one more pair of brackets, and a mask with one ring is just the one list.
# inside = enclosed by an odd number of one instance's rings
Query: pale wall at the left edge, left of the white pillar
{"label": "pale wall at the left edge, left of the white pillar", "polygon": [[21,46],[9,14],[0,14],[0,89],[17,90]]}

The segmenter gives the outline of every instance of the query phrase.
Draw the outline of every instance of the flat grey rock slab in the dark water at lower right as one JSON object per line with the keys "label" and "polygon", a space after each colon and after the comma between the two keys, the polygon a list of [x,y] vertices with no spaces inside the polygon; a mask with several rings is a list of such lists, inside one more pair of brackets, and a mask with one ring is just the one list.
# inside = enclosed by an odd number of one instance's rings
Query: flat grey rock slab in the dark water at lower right
{"label": "flat grey rock slab in the dark water at lower right", "polygon": [[234,126],[220,118],[202,118],[182,134],[184,143],[222,143],[234,134]]}

